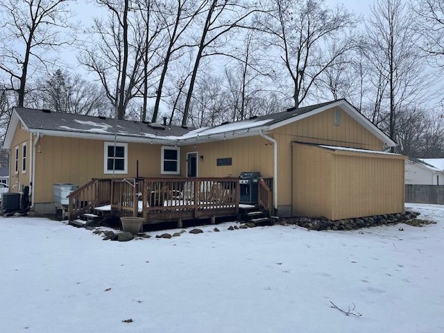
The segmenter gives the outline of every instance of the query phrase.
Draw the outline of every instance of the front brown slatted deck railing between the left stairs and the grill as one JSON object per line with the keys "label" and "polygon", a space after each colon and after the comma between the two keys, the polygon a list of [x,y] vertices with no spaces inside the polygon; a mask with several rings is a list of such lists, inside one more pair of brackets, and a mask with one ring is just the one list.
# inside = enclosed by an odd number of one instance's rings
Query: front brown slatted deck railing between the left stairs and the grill
{"label": "front brown slatted deck railing between the left stairs and the grill", "polygon": [[118,178],[112,180],[114,214],[169,220],[239,212],[237,178]]}

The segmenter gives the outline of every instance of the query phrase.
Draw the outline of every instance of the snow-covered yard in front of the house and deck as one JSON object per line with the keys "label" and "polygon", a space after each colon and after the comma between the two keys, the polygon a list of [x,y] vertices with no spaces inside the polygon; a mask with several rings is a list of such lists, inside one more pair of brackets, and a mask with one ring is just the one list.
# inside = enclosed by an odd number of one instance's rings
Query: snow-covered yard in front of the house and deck
{"label": "snow-covered yard in front of the house and deck", "polygon": [[444,206],[407,206],[437,224],[117,242],[0,218],[0,332],[444,332]]}

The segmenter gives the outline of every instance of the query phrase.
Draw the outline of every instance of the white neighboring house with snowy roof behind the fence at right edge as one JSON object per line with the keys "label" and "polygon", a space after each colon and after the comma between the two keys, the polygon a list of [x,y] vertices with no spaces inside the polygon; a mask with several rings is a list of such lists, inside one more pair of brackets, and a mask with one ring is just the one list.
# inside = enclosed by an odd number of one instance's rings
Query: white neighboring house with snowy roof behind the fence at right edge
{"label": "white neighboring house with snowy roof behind the fence at right edge", "polygon": [[405,161],[407,185],[444,185],[444,171],[415,157]]}

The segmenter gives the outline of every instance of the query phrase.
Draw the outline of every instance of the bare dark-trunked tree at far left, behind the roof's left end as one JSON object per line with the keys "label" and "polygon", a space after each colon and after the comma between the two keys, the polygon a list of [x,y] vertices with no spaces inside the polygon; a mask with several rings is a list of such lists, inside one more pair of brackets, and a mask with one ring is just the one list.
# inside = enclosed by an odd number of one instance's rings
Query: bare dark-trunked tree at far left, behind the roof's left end
{"label": "bare dark-trunked tree at far left, behind the roof's left end", "polygon": [[17,105],[24,106],[26,83],[40,65],[53,64],[48,53],[71,44],[73,28],[67,9],[70,0],[4,0],[0,3],[2,18],[0,69],[9,78],[5,89],[17,93]]}

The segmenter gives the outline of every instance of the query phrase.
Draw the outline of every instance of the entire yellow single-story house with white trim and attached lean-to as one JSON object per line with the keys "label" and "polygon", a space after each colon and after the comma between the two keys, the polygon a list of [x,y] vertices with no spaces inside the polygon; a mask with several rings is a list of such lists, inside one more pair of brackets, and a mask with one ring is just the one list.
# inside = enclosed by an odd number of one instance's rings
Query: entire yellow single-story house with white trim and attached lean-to
{"label": "entire yellow single-story house with white trim and attached lean-to", "polygon": [[[53,212],[52,186],[60,182],[138,176],[171,186],[192,177],[225,184],[258,171],[268,179],[259,196],[270,196],[275,214],[327,219],[404,210],[404,156],[386,153],[394,145],[344,99],[198,129],[15,108],[4,141],[12,190],[30,185],[37,212]],[[130,201],[119,207],[137,214]]]}

